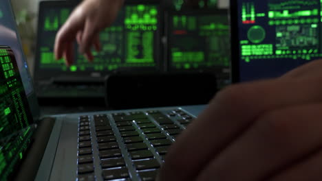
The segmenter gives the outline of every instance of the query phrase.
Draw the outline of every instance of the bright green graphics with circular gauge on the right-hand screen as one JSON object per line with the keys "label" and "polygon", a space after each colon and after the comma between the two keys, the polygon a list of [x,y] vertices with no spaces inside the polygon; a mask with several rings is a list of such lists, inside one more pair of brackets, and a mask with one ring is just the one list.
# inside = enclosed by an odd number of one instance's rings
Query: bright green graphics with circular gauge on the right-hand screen
{"label": "bright green graphics with circular gauge on the right-hand screen", "polygon": [[321,57],[321,5],[322,0],[239,1],[241,59],[303,64]]}

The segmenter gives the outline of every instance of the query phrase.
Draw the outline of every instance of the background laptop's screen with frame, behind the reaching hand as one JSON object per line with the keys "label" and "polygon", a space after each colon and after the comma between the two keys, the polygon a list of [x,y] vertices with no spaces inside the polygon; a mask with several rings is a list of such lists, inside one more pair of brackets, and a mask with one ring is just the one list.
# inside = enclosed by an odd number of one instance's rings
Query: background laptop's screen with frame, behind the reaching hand
{"label": "background laptop's screen with frame, behind the reaching hand", "polygon": [[102,51],[94,53],[94,62],[87,62],[77,51],[74,65],[54,60],[54,40],[77,5],[75,1],[42,1],[36,46],[36,80],[58,75],[103,77],[112,71],[160,69],[160,10],[158,3],[126,1],[116,21],[100,32]]}

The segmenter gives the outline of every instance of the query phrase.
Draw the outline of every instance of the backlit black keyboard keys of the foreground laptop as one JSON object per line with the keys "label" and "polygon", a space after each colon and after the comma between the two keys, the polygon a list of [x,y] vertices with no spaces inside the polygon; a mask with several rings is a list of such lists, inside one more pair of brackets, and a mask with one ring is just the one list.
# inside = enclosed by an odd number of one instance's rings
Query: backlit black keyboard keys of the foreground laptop
{"label": "backlit black keyboard keys of the foreground laptop", "polygon": [[79,117],[78,181],[155,180],[171,143],[192,120],[180,109]]}

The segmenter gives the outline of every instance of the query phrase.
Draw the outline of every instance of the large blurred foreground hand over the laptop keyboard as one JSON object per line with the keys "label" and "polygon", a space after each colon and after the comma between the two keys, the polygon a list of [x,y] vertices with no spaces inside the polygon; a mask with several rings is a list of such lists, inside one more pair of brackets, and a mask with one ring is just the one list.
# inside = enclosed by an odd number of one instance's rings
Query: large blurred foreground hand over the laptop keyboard
{"label": "large blurred foreground hand over the laptop keyboard", "polygon": [[159,180],[321,180],[322,60],[217,93],[165,158]]}

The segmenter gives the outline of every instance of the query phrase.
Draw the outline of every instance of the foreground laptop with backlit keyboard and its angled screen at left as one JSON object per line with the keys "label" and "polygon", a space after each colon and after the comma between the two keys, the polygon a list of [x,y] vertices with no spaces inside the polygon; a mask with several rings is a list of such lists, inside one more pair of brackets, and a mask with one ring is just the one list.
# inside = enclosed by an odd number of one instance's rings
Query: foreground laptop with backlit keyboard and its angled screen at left
{"label": "foreground laptop with backlit keyboard and its angled screen at left", "polygon": [[0,180],[154,180],[204,106],[39,117],[10,0],[0,12]]}

